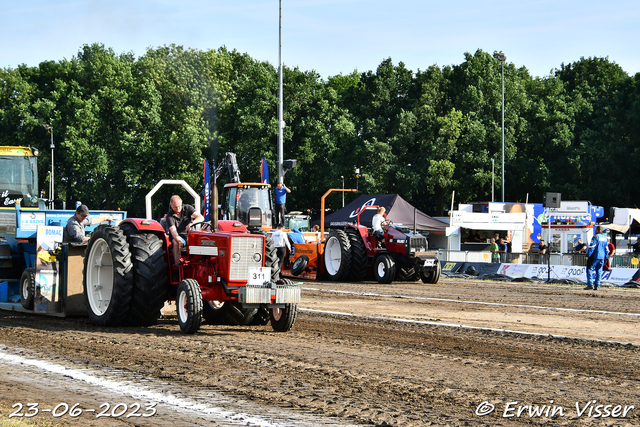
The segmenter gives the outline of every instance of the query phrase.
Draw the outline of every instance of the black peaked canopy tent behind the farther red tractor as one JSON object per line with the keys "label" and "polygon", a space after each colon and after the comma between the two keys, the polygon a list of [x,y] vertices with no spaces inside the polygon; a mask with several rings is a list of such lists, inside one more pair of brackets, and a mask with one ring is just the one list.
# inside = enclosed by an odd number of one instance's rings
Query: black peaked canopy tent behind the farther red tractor
{"label": "black peaked canopy tent behind the farther red tractor", "polygon": [[[394,224],[402,224],[406,227],[413,228],[414,212],[416,220],[416,229],[419,231],[429,231],[430,233],[444,233],[448,224],[431,218],[429,215],[413,207],[412,204],[404,200],[397,194],[375,194],[362,195],[344,208],[325,216],[324,226],[339,227],[347,223],[356,222],[358,213],[366,206],[384,206],[387,210],[387,219],[393,221]],[[366,209],[360,215],[360,224],[371,227],[371,219],[376,214],[376,209]],[[320,224],[320,221],[316,221]]]}

